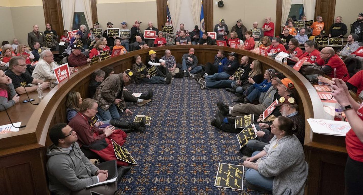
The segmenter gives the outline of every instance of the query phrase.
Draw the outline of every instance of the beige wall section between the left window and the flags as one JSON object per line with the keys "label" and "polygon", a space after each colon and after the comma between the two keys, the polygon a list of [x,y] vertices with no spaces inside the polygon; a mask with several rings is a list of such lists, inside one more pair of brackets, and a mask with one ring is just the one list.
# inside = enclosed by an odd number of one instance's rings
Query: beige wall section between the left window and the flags
{"label": "beige wall section between the left window and the flags", "polygon": [[[103,3],[103,2],[119,3]],[[101,2],[101,3],[100,3]],[[158,28],[158,17],[156,15],[156,0],[129,2],[127,0],[98,0],[97,17],[101,28],[107,28],[107,22],[112,22],[114,28],[121,28],[121,22],[127,22],[127,28],[131,29],[136,20],[141,23],[140,29],[147,28],[147,23]]]}

